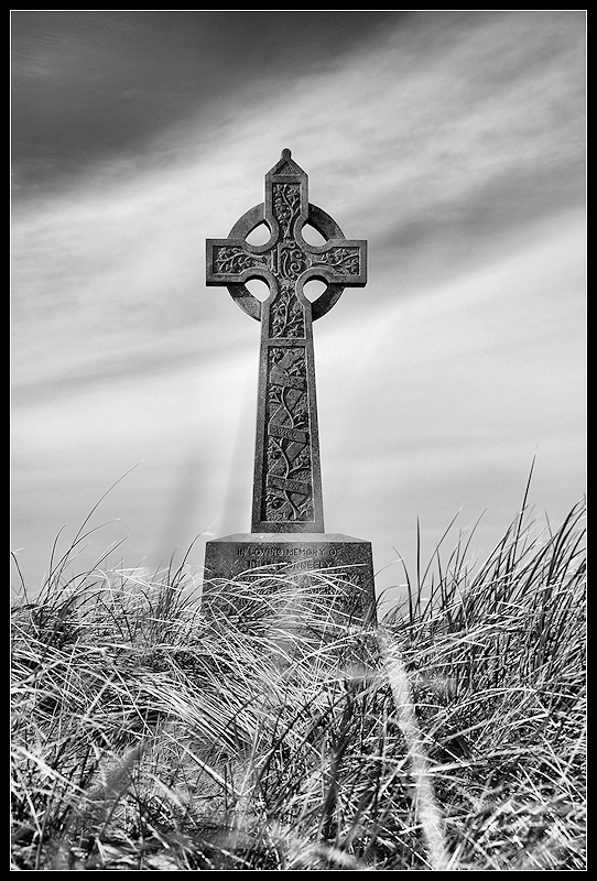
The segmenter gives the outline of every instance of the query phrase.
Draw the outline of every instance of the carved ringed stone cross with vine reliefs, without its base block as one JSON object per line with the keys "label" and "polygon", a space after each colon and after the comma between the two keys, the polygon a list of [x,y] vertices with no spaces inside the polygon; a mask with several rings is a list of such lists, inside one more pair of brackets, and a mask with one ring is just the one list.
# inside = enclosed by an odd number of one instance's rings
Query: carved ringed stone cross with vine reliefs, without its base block
{"label": "carved ringed stone cross with vine reliefs, without its base block", "polygon": [[[249,243],[263,222],[269,241]],[[307,224],[324,244],[304,240]],[[250,279],[268,284],[263,303],[248,290]],[[303,293],[311,279],[326,284],[313,303]],[[207,240],[206,284],[226,285],[261,322],[253,533],[324,532],[312,323],[346,286],[366,283],[367,242],[345,239],[336,221],[308,203],[307,175],[290,150],[265,175],[265,202],[242,215],[227,239]]]}

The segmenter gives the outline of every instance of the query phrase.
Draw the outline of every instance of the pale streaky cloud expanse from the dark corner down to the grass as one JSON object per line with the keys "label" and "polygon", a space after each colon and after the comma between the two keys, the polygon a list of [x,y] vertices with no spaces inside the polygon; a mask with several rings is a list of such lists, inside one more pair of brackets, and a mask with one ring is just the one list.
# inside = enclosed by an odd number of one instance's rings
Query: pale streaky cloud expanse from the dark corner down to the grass
{"label": "pale streaky cloud expanse from the dark corner down to the grass", "polygon": [[189,532],[248,524],[259,328],[204,287],[204,242],[262,200],[285,146],[312,202],[370,249],[368,286],[315,328],[328,527],[389,548],[417,513],[510,515],[538,444],[538,499],[579,493],[583,25],[406,17],[315,69],[230,86],[133,156],[19,204],[26,543],[142,458],[137,499],[117,501],[144,541],[172,540],[184,475],[200,488]]}

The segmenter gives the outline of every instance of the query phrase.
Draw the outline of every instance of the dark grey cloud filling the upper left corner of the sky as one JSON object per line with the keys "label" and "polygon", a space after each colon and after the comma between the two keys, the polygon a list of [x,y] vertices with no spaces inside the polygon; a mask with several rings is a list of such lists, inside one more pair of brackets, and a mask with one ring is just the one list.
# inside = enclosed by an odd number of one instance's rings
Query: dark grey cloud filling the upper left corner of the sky
{"label": "dark grey cloud filling the upper left corner of the sky", "polygon": [[230,91],[323,73],[398,12],[13,10],[17,195],[52,192],[195,113],[210,124]]}

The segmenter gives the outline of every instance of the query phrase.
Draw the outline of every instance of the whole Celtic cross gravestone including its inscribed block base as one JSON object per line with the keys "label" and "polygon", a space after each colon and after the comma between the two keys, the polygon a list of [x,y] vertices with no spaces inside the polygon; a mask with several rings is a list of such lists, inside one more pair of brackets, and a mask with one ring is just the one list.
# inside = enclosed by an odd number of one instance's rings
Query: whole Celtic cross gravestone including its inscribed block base
{"label": "whole Celtic cross gravestone including its inscribed block base", "polygon": [[[247,241],[265,224],[264,244]],[[303,238],[305,225],[324,239]],[[269,286],[264,302],[246,282]],[[303,287],[326,284],[311,303]],[[327,569],[329,589],[343,590],[349,618],[375,620],[371,544],[326,533],[315,398],[313,322],[325,315],[345,287],[367,283],[367,242],[346,239],[336,221],[308,202],[308,181],[290,150],[265,175],[265,200],[235,224],[228,238],[208,239],[206,284],[226,286],[240,308],[261,324],[257,443],[251,532],[207,542],[204,591],[218,579],[241,579],[263,567],[292,577]],[[304,577],[308,578],[307,575]],[[325,579],[313,579],[325,590]],[[335,605],[338,597],[333,598]]]}

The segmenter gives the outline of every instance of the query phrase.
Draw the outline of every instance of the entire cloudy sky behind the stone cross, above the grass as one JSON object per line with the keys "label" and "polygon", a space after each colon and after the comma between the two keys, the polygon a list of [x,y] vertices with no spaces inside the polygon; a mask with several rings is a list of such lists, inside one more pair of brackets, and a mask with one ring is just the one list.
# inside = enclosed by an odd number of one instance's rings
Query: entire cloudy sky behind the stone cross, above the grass
{"label": "entire cloudy sky behind the stone cross, above the grass", "polygon": [[[250,530],[259,327],[205,239],[285,148],[367,239],[314,325],[326,530],[400,596],[585,491],[585,11],[14,10],[11,542],[30,592]],[[314,283],[317,284],[317,283]],[[533,465],[534,463],[534,465]],[[99,502],[99,504],[98,504]],[[106,558],[104,556],[107,554]],[[19,585],[15,574],[13,584]]]}

